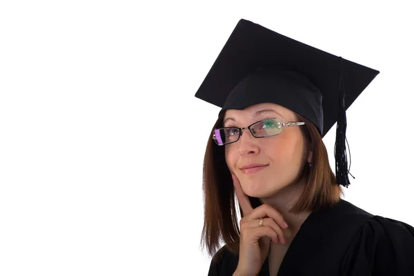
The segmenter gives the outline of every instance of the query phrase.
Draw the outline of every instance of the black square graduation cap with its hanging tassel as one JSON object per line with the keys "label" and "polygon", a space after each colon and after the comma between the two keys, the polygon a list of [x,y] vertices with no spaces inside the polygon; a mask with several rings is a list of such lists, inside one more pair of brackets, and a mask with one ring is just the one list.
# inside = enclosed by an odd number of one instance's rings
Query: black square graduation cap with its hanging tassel
{"label": "black square graduation cap with its hanging tassel", "polygon": [[337,184],[348,187],[346,110],[379,74],[241,19],[195,97],[242,110],[276,103],[302,115],[322,137],[337,122]]}

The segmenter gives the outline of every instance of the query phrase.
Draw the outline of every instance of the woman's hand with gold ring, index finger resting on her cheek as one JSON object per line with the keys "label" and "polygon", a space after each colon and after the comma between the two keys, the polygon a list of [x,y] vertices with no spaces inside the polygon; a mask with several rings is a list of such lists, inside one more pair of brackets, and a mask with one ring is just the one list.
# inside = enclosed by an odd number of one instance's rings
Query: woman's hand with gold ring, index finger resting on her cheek
{"label": "woman's hand with gold ring, index finger resting on her cheek", "polygon": [[[268,204],[253,209],[248,196],[240,186],[239,179],[233,173],[232,178],[237,200],[244,215],[240,220],[239,263],[235,275],[258,275],[268,255],[270,241],[286,244],[282,228],[288,228],[288,224],[282,215]],[[263,226],[259,226],[261,218]]]}

